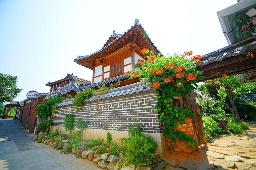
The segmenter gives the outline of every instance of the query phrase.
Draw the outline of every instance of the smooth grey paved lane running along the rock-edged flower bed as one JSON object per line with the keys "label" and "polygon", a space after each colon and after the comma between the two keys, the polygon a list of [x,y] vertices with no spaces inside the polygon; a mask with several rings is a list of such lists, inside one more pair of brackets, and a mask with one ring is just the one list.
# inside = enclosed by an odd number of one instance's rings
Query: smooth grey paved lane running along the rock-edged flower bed
{"label": "smooth grey paved lane running along the rock-edged flower bed", "polygon": [[7,138],[0,142],[1,170],[100,169],[91,161],[76,158],[73,154],[60,154],[49,145],[37,143],[36,135],[20,128],[22,125],[15,120],[0,120],[0,139]]}

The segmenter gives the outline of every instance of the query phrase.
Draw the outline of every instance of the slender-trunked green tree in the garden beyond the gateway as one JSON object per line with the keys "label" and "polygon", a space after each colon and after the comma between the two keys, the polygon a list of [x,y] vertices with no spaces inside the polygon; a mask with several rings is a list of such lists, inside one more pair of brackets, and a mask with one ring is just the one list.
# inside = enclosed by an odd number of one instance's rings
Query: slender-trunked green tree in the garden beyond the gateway
{"label": "slender-trunked green tree in the garden beyond the gateway", "polygon": [[234,100],[239,95],[255,92],[256,83],[240,83],[240,79],[237,79],[236,76],[237,75],[232,75],[218,78],[217,81],[220,83],[220,89],[218,90],[219,97],[228,98],[231,107],[227,103],[226,106],[229,107],[230,111],[240,120],[240,116],[234,104]]}

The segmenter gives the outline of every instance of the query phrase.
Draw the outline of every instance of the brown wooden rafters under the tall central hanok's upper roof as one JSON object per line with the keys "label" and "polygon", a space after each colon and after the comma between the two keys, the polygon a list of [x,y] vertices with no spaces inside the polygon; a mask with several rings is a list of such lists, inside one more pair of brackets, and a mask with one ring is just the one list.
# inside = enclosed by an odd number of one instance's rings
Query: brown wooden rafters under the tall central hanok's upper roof
{"label": "brown wooden rafters under the tall central hanok's upper roof", "polygon": [[117,40],[113,44],[106,47],[104,50],[101,50],[87,58],[79,59],[75,62],[89,69],[93,69],[93,67],[100,65],[98,64],[99,59],[104,59],[114,53],[117,53],[129,44],[136,44],[136,47],[139,48],[136,49],[137,51],[141,51],[142,49],[147,48],[154,51],[155,53],[159,52],[140,24],[135,24],[131,30],[129,30],[120,38],[116,39]]}

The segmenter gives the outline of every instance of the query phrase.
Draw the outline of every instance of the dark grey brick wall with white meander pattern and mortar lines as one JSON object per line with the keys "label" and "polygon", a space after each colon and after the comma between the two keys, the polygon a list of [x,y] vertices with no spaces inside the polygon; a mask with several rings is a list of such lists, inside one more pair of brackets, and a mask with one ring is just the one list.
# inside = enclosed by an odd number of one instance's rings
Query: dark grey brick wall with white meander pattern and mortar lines
{"label": "dark grey brick wall with white meander pattern and mortar lines", "polygon": [[65,114],[72,113],[75,120],[82,119],[90,129],[128,131],[135,122],[142,126],[142,132],[162,133],[162,124],[157,122],[160,113],[151,110],[156,104],[156,92],[150,90],[84,102],[78,113],[73,105],[61,106],[54,115],[52,126],[64,126]]}

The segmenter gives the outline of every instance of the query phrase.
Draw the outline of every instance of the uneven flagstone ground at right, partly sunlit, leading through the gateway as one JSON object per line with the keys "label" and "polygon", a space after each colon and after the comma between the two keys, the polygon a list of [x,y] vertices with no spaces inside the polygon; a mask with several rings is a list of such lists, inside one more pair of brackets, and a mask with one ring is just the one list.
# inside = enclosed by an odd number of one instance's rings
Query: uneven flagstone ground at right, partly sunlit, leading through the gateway
{"label": "uneven flagstone ground at right, partly sunlit, leading through the gateway", "polygon": [[223,134],[191,154],[167,151],[163,159],[168,169],[256,169],[256,124],[244,132]]}

